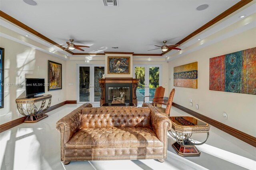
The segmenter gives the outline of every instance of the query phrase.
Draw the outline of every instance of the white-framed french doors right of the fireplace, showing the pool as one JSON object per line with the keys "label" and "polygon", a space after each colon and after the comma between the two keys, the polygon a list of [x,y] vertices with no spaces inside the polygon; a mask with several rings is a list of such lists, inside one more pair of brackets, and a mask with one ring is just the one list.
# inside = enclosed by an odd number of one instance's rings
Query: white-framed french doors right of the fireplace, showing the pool
{"label": "white-framed french doors right of the fireplace, showing the pool", "polygon": [[[142,104],[145,96],[154,96],[156,87],[162,85],[162,65],[133,65],[133,77],[139,80],[137,88],[138,104]],[[146,97],[152,101],[154,97]]]}

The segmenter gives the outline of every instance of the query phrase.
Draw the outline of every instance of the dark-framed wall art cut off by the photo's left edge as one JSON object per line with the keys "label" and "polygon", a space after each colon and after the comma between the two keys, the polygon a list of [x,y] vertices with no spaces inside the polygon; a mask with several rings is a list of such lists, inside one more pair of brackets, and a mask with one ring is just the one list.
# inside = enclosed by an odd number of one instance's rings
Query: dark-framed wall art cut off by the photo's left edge
{"label": "dark-framed wall art cut off by the photo's left edge", "polygon": [[4,108],[4,48],[0,47],[0,109]]}

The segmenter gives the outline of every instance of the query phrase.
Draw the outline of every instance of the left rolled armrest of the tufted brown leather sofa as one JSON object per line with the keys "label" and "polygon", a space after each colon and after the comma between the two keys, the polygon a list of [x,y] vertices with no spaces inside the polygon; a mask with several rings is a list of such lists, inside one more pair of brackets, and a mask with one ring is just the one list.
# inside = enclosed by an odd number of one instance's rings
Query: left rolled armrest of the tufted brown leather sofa
{"label": "left rolled armrest of the tufted brown leather sofa", "polygon": [[62,117],[62,119],[56,123],[56,129],[60,132],[61,140],[64,142],[63,144],[66,144],[66,142],[68,142],[73,134],[80,128],[81,112],[85,107],[92,107],[92,104],[85,103],[68,115]]}

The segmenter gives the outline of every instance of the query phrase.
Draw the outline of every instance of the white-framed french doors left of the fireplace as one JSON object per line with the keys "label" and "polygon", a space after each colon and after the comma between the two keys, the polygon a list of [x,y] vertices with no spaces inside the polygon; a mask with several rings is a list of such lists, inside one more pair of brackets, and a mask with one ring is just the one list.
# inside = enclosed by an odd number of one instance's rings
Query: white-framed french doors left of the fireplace
{"label": "white-framed french doors left of the fireplace", "polygon": [[104,65],[77,65],[77,101],[78,103],[100,103],[100,85],[98,79],[104,75]]}

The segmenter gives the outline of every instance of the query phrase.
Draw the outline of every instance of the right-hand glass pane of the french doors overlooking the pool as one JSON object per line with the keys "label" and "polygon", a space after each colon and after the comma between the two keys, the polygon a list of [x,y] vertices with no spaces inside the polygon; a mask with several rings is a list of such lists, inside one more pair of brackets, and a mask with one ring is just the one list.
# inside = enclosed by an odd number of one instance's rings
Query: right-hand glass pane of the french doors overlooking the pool
{"label": "right-hand glass pane of the french doors overlooking the pool", "polygon": [[149,101],[153,101],[156,87],[159,87],[159,67],[149,67]]}

